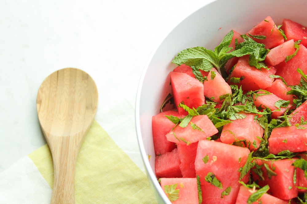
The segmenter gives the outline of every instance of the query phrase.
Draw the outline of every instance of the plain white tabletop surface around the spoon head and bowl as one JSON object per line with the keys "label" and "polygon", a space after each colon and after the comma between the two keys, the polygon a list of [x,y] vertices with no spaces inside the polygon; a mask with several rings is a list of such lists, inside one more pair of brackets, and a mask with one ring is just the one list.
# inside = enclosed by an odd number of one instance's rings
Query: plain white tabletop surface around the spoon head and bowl
{"label": "plain white tabletop surface around the spoon head and bowl", "polygon": [[143,170],[134,119],[142,69],[158,41],[207,1],[1,0],[0,172],[46,143],[37,91],[66,67],[95,80],[95,120]]}

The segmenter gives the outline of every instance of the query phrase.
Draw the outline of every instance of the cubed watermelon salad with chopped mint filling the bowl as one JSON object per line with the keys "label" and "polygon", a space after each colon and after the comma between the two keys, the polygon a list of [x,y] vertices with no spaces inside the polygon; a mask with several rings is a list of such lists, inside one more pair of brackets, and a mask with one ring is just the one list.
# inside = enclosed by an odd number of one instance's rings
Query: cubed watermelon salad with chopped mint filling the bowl
{"label": "cubed watermelon salad with chopped mint filling the bowl", "polygon": [[174,57],[152,117],[155,174],[172,203],[307,203],[306,47],[306,27],[268,16]]}

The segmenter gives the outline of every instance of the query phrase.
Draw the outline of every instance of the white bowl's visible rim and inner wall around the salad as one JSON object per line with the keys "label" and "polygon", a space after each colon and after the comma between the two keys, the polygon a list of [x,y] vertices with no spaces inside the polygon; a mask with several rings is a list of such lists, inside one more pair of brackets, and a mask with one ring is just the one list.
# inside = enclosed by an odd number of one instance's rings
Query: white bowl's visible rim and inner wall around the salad
{"label": "white bowl's visible rim and inner wall around the salad", "polygon": [[[204,46],[214,49],[231,29],[246,33],[267,16],[276,25],[284,18],[307,26],[307,1],[303,0],[218,0],[200,8],[162,39],[143,70],[136,98],[136,128],[147,176],[159,203],[171,203],[154,174],[151,117],[159,113],[168,92],[163,92],[171,63],[181,50]],[[149,160],[148,155],[151,155]]]}

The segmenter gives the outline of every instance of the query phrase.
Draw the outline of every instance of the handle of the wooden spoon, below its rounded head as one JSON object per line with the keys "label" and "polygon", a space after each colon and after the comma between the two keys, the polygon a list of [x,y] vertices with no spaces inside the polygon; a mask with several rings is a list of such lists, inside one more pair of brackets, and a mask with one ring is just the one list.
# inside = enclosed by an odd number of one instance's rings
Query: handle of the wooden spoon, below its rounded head
{"label": "handle of the wooden spoon, below its rounded head", "polygon": [[75,137],[50,137],[53,158],[51,204],[75,204],[74,177],[81,142]]}

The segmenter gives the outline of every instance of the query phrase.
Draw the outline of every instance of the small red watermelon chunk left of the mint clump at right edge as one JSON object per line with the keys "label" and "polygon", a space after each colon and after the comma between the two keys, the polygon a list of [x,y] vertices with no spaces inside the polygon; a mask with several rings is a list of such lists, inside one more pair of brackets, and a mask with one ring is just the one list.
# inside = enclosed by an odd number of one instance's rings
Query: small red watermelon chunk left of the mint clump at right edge
{"label": "small red watermelon chunk left of the mint clump at right edge", "polygon": [[290,104],[293,104],[293,99],[296,98],[294,95],[287,95],[287,92],[290,91],[291,88],[287,87],[281,79],[275,79],[275,81],[272,83],[272,86],[267,87],[265,90],[271,92],[279,98],[282,98],[285,101],[290,101]]}

